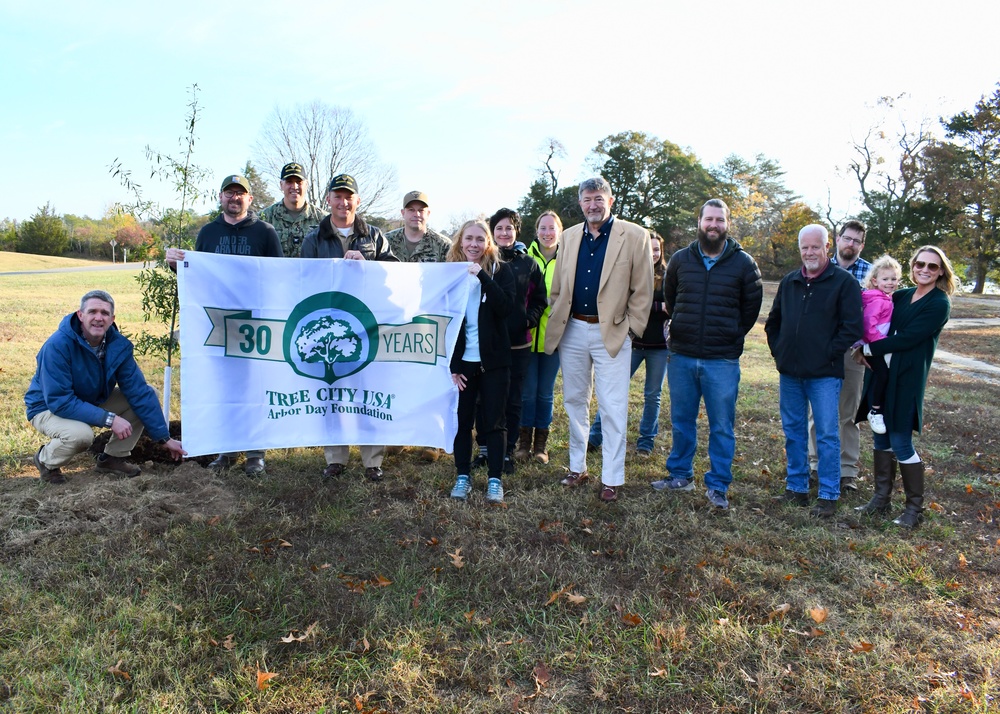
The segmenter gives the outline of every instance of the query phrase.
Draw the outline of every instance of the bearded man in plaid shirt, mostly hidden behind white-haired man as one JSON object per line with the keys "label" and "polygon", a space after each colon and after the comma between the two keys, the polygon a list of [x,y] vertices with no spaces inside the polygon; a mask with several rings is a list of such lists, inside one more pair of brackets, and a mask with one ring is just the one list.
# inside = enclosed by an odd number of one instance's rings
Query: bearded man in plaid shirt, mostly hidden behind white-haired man
{"label": "bearded man in plaid shirt, mostly hidden behind white-haired man", "polygon": [[[833,264],[840,266],[865,288],[868,271],[872,264],[861,257],[865,247],[867,226],[861,221],[847,221],[840,228],[833,251]],[[865,382],[865,366],[858,364],[851,356],[851,350],[844,353],[844,384],[840,389],[840,490],[858,490],[858,461],[861,458],[861,430],[854,423],[858,405],[861,403],[861,389]],[[816,455],[816,425],[809,415],[809,473],[815,479],[819,458]]]}

